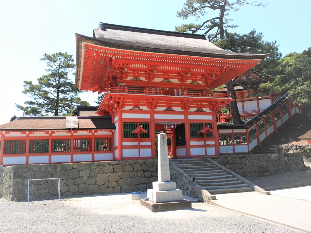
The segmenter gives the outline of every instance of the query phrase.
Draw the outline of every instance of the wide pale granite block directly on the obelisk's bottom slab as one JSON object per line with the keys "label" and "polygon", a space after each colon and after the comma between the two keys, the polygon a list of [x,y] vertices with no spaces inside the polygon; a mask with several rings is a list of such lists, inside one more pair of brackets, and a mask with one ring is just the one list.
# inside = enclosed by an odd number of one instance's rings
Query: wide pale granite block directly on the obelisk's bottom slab
{"label": "wide pale granite block directly on the obelisk's bottom slab", "polygon": [[183,191],[179,189],[170,191],[156,191],[153,189],[151,189],[152,191],[148,190],[147,190],[147,198],[156,203],[183,200]]}

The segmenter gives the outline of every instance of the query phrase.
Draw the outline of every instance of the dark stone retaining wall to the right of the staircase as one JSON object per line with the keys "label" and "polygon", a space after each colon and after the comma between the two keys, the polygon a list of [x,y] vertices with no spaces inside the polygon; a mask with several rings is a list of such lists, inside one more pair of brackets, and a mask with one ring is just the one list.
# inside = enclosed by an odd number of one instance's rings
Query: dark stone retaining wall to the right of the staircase
{"label": "dark stone retaining wall to the right of the staircase", "polygon": [[302,153],[223,155],[211,159],[245,178],[263,177],[304,168]]}

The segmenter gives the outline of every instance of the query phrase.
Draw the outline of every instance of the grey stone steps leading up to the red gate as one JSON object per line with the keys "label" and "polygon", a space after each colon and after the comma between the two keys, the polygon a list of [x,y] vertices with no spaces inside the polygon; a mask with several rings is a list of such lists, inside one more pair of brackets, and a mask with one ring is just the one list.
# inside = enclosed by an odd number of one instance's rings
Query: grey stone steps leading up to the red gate
{"label": "grey stone steps leading up to the red gate", "polygon": [[195,176],[195,181],[211,194],[254,191],[254,188],[205,159],[172,159],[171,161],[190,177]]}

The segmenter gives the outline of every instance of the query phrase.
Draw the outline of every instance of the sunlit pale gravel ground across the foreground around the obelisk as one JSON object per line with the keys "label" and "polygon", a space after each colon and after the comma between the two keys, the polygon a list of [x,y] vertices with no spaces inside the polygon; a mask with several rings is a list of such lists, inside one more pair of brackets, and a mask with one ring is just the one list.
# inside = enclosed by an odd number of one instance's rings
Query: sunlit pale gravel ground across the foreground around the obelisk
{"label": "sunlit pale gravel ground across the foreground around the obelisk", "polygon": [[0,232],[301,232],[206,203],[192,203],[192,207],[153,213],[130,194],[29,204],[1,198]]}

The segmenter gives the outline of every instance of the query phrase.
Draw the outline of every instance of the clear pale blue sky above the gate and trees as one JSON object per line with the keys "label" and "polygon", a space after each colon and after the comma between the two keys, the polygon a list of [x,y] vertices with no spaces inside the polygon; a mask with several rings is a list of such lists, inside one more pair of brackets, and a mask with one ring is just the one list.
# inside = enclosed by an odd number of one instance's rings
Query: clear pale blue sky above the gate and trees
{"label": "clear pale blue sky above the gate and trees", "polygon": [[[102,1],[4,1],[0,0],[0,124],[13,115],[22,116],[15,103],[29,99],[22,94],[23,81],[33,81],[46,72],[39,58],[44,53],[76,54],[75,33],[93,36],[103,21],[111,24],[174,30],[185,22],[176,17],[185,0]],[[253,28],[267,41],[276,40],[283,55],[301,53],[311,46],[311,1],[262,0],[266,8],[242,6],[230,12],[238,33]],[[204,16],[207,19],[210,15]],[[74,80],[74,77],[72,76]],[[81,98],[95,105],[97,93]]]}

